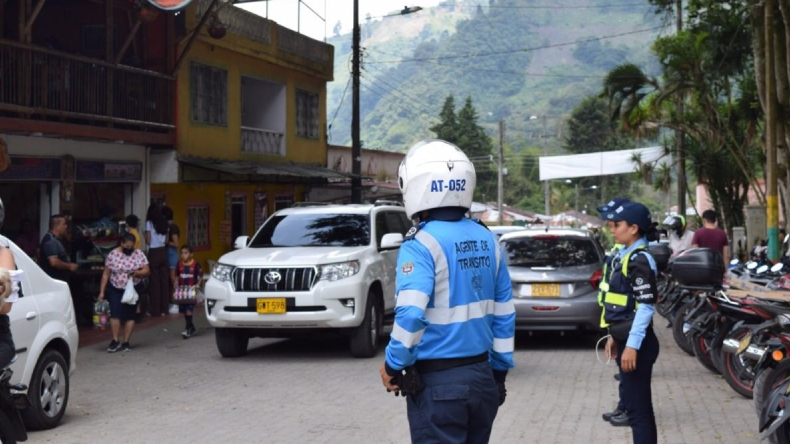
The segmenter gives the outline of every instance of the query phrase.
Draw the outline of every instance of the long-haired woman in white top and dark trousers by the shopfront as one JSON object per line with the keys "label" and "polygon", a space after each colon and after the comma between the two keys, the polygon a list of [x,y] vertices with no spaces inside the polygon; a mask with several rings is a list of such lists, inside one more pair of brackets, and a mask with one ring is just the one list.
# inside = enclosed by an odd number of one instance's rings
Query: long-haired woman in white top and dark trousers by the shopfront
{"label": "long-haired woman in white top and dark trousers by the shopfront", "polygon": [[167,263],[167,219],[155,203],[148,207],[145,218],[145,243],[148,245],[151,267],[151,276],[148,278],[149,311],[151,316],[164,316],[170,310],[172,288]]}

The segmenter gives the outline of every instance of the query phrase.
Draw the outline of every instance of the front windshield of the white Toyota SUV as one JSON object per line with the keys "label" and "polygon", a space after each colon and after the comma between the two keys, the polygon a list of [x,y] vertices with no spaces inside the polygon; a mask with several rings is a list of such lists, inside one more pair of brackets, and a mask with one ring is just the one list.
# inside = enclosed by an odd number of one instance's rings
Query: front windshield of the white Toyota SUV
{"label": "front windshield of the white Toyota SUV", "polygon": [[359,247],[370,244],[367,214],[273,216],[250,242],[251,248]]}

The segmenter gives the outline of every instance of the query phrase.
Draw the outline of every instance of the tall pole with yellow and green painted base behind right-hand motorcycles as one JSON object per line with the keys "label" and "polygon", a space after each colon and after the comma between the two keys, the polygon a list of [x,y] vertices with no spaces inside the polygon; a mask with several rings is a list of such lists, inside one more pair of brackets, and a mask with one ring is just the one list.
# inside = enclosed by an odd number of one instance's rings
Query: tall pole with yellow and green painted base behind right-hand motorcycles
{"label": "tall pole with yellow and green painted base behind right-hand motorcycles", "polygon": [[[774,72],[774,10],[775,0],[765,1],[765,151],[766,204],[768,218],[768,259],[779,260],[779,200],[777,199],[776,165],[776,73]],[[782,48],[784,50],[784,48]]]}

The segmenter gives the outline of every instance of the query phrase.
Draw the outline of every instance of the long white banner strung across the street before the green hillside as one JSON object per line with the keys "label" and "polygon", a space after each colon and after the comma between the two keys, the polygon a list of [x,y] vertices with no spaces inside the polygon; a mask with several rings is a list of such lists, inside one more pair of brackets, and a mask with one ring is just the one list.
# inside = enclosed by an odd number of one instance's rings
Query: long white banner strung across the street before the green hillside
{"label": "long white banner strung across the street before the green hillside", "polygon": [[642,163],[670,163],[668,156],[664,155],[664,148],[660,146],[541,157],[540,180],[633,173],[636,171],[634,155],[639,156]]}

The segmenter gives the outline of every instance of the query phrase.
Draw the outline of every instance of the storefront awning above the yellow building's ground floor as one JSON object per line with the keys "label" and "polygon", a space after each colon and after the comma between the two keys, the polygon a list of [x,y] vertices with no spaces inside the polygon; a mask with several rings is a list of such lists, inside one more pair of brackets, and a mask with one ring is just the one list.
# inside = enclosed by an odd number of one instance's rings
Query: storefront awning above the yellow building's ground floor
{"label": "storefront awning above the yellow building's ground floor", "polygon": [[289,183],[322,184],[344,181],[350,174],[331,170],[319,165],[303,163],[257,163],[252,161],[231,161],[178,157],[181,164],[181,181],[197,182],[236,182],[236,183]]}

